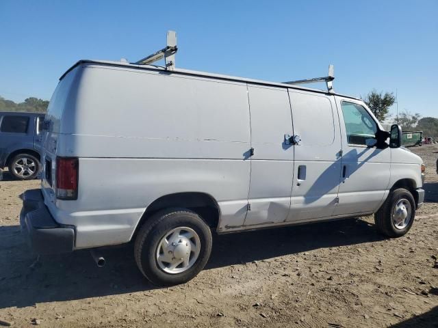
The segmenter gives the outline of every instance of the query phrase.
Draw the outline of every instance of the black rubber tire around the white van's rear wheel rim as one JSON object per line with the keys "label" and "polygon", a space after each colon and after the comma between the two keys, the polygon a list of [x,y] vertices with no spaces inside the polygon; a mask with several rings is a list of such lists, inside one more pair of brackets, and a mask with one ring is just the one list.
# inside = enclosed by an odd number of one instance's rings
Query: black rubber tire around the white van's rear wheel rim
{"label": "black rubber tire around the white van's rear wheel rim", "polygon": [[[198,258],[186,271],[167,273],[159,267],[157,249],[160,241],[175,228],[188,227],[200,240]],[[138,268],[151,283],[157,286],[183,284],[195,277],[207,264],[211,253],[211,230],[201,217],[185,208],[171,208],[150,217],[140,228],[134,245]]]}

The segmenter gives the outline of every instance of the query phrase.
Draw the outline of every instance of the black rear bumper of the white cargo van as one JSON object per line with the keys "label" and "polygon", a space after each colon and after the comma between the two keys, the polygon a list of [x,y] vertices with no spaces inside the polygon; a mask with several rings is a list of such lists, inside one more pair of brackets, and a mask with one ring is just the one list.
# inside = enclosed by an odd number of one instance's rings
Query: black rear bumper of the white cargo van
{"label": "black rear bumper of the white cargo van", "polygon": [[60,226],[53,219],[44,205],[40,189],[23,193],[20,226],[36,254],[62,254],[74,249],[75,230]]}

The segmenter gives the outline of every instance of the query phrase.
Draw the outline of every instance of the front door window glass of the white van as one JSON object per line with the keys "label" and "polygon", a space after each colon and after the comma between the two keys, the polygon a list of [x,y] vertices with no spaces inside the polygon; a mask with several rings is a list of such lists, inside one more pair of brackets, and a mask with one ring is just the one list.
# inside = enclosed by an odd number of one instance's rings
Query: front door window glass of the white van
{"label": "front door window glass of the white van", "polygon": [[376,122],[374,122],[368,111],[361,105],[343,101],[341,107],[348,143],[366,146],[366,139],[376,137]]}

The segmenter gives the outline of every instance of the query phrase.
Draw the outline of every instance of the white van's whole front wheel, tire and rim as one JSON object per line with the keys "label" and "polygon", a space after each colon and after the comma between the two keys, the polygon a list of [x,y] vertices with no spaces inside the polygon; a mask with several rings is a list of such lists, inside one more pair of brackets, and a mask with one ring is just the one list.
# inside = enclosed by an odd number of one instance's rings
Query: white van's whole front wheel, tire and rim
{"label": "white van's whole front wheel, tire and rim", "polygon": [[374,215],[382,234],[400,237],[411,229],[415,218],[415,200],[407,189],[396,189],[389,194],[383,206]]}

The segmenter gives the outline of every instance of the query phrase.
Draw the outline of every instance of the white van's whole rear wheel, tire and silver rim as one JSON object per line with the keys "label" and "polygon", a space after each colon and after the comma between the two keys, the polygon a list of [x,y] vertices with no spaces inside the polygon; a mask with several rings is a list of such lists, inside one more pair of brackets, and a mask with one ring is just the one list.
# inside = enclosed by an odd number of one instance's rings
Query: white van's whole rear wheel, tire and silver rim
{"label": "white van's whole rear wheel, tire and silver rim", "polygon": [[207,264],[211,231],[199,215],[187,209],[156,213],[138,232],[134,256],[140,271],[155,285],[183,284]]}

